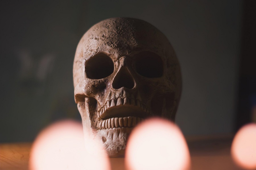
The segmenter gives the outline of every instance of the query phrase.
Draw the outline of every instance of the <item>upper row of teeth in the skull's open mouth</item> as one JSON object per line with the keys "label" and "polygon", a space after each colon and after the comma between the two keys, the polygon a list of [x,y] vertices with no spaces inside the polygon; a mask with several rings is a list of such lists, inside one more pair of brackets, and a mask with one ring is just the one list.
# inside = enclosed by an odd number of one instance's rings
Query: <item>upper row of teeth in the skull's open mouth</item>
{"label": "upper row of teeth in the skull's open mouth", "polygon": [[139,99],[134,98],[128,98],[125,97],[122,99],[121,97],[118,97],[117,99],[108,100],[103,107],[100,108],[100,116],[107,111],[111,107],[119,106],[119,105],[134,105],[137,107],[141,107],[144,112],[148,112],[145,105],[142,104],[142,102]]}

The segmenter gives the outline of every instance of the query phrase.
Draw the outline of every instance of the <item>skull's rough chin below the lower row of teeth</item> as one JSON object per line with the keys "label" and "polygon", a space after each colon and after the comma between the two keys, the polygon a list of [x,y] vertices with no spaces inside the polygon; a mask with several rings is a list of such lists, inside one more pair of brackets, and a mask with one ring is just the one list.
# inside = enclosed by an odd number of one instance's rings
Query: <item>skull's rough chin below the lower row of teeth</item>
{"label": "skull's rough chin below the lower row of teeth", "polygon": [[133,128],[111,128],[96,130],[109,157],[124,157],[126,143]]}

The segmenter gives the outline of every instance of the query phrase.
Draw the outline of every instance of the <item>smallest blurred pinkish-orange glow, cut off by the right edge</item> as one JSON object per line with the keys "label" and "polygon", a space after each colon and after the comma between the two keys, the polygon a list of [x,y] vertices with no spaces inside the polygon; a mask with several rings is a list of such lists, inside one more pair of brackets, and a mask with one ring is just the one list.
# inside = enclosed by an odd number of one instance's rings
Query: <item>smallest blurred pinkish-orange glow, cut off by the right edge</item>
{"label": "smallest blurred pinkish-orange glow, cut off by the right edge", "polygon": [[236,133],[231,154],[242,168],[256,169],[256,124],[247,124]]}

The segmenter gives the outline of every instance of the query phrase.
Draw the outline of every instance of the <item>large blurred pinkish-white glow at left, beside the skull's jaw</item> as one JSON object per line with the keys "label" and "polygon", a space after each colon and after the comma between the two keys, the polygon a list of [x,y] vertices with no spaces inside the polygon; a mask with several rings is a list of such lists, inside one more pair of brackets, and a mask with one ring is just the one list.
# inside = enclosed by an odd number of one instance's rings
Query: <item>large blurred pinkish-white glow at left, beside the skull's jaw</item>
{"label": "large blurred pinkish-white glow at left, beside the skull's jaw", "polygon": [[86,146],[94,154],[86,152],[82,124],[66,120],[49,126],[33,143],[30,169],[110,169],[106,153],[97,146],[98,141],[85,138]]}

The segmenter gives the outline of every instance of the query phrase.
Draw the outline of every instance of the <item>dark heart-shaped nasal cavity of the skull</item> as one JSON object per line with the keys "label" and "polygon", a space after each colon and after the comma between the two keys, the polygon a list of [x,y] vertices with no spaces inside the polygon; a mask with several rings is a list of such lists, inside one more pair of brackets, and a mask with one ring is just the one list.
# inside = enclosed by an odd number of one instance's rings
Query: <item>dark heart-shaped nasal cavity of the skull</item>
{"label": "dark heart-shaped nasal cavity of the skull", "polygon": [[122,87],[132,89],[134,87],[134,79],[127,67],[122,67],[118,71],[113,80],[112,87],[115,89]]}

